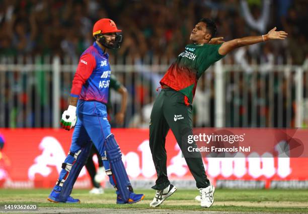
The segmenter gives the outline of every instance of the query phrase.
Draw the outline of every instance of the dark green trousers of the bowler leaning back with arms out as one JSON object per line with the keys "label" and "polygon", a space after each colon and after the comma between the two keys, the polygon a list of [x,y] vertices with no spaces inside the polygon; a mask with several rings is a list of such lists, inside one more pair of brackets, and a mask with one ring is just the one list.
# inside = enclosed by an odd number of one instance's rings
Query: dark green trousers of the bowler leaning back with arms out
{"label": "dark green trousers of the bowler leaning back with arms out", "polygon": [[187,152],[189,146],[196,144],[187,142],[188,135],[192,135],[192,105],[181,92],[171,88],[162,89],[153,104],[149,124],[149,146],[157,172],[156,185],[153,189],[161,190],[169,186],[167,176],[167,153],[165,149],[166,135],[171,128],[181,148],[187,166],[196,180],[197,188],[209,186],[201,154]]}

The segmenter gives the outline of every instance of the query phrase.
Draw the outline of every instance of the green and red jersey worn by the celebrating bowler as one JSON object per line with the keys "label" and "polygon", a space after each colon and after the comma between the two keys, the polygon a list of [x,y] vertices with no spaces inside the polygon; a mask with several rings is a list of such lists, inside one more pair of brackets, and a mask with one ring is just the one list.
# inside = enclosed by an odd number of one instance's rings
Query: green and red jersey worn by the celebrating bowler
{"label": "green and red jersey worn by the celebrating bowler", "polygon": [[186,45],[185,51],[178,55],[167,70],[161,85],[183,93],[192,102],[198,79],[211,64],[223,57],[218,53],[220,46],[221,44]]}

